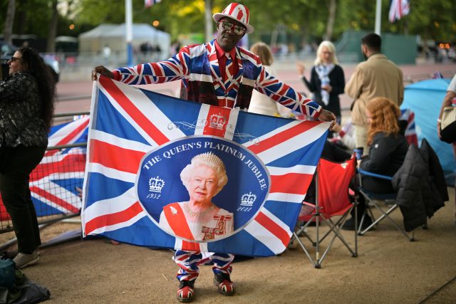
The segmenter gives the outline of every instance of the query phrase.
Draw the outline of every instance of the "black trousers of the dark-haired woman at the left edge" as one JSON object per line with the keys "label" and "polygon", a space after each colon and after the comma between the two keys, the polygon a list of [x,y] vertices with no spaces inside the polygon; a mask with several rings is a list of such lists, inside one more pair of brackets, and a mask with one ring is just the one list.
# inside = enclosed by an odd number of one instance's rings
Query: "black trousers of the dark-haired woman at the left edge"
{"label": "black trousers of the dark-haired woman at the left edge", "polygon": [[41,162],[45,147],[11,148],[4,172],[0,174],[0,193],[11,216],[18,242],[18,251],[32,253],[41,245],[38,220],[28,188],[29,175]]}

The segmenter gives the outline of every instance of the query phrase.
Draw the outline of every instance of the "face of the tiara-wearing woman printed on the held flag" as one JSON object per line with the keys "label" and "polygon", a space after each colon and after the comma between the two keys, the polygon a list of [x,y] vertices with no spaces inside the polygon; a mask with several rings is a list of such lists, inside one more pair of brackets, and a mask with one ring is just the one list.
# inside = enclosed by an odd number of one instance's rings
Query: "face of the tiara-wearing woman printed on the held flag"
{"label": "face of the tiara-wearing woman printed on the held flag", "polygon": [[202,164],[192,172],[189,182],[190,201],[210,204],[212,197],[217,193],[219,179],[211,167]]}

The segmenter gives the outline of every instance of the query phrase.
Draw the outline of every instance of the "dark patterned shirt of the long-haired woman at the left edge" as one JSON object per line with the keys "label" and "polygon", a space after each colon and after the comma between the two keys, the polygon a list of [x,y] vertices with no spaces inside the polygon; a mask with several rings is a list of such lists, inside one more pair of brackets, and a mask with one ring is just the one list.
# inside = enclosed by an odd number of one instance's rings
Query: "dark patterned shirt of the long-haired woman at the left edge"
{"label": "dark patterned shirt of the long-haired woman at the left edge", "polygon": [[0,81],[0,142],[7,147],[47,147],[46,123],[35,78],[22,71]]}

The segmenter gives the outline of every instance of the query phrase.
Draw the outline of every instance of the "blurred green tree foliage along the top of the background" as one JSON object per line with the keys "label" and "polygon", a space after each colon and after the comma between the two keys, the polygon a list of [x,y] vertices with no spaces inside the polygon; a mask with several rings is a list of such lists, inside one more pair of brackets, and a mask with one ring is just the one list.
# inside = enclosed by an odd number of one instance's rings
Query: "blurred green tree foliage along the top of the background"
{"label": "blurred green tree foliage along the top of the background", "polygon": [[[231,1],[212,1],[212,14],[222,11]],[[48,35],[51,20],[50,4],[52,0],[16,0],[16,19],[14,33],[18,33],[24,22],[24,33],[33,33],[41,38]],[[58,0],[61,16],[58,20],[57,35],[78,36],[79,33],[98,26],[100,23],[125,22],[124,0]],[[251,11],[250,23],[256,31],[250,35],[250,41],[270,37],[274,30],[281,30],[281,38],[286,35],[299,37],[301,41],[320,40],[326,32],[328,19],[328,0],[244,0]],[[373,31],[375,26],[375,1],[373,0],[337,0],[336,21],[333,28],[333,40],[344,31]],[[440,41],[456,40],[456,5],[448,0],[413,0],[410,14],[400,21],[388,21],[389,2],[382,1],[383,33],[420,34],[423,37]],[[8,0],[0,0],[0,31],[4,28],[4,17]],[[26,19],[19,20],[21,11]],[[64,12],[65,11],[65,12]],[[204,33],[204,0],[162,0],[160,3],[144,7],[143,0],[133,0],[133,21],[152,23],[160,21],[162,31],[167,31],[172,38],[181,33]],[[74,24],[75,28],[68,27]]]}

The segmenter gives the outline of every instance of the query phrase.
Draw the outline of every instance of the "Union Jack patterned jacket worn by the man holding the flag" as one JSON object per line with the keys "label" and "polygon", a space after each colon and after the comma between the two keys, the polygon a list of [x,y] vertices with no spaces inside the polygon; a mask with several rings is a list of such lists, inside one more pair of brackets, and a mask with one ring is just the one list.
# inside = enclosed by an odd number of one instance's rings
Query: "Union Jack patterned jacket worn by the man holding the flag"
{"label": "Union Jack patterned jacket worn by the man holding the flag", "polygon": [[241,109],[249,108],[255,88],[291,110],[318,117],[320,105],[269,75],[259,57],[244,48],[236,47],[239,72],[223,82],[214,43],[184,46],[166,61],[113,70],[114,79],[130,85],[182,80],[182,99]]}

